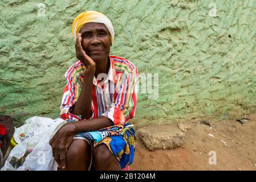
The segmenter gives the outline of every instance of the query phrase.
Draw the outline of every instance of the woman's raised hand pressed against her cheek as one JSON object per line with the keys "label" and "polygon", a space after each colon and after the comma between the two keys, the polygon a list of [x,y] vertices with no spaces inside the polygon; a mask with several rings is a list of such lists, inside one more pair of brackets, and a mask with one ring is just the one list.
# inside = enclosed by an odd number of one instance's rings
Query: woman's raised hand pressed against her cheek
{"label": "woman's raised hand pressed against her cheek", "polygon": [[77,34],[76,36],[76,57],[82,61],[82,63],[86,66],[86,72],[92,71],[95,72],[96,70],[96,63],[94,60],[91,59],[90,56],[86,54],[86,51],[84,51],[82,47],[82,36],[81,34]]}

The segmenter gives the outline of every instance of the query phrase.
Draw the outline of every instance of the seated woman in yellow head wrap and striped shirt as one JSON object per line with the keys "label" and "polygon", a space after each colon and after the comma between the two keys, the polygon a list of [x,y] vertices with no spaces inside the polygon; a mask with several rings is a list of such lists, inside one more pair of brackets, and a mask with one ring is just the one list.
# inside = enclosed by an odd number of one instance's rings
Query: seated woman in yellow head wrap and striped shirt
{"label": "seated woman in yellow head wrap and striped shirt", "polygon": [[[137,69],[127,59],[109,55],[115,32],[107,16],[79,14],[72,35],[78,61],[65,74],[60,106],[60,117],[70,122],[50,140],[54,159],[66,170],[121,170],[133,162],[135,152],[129,119],[135,116]],[[111,131],[112,126],[119,132]],[[109,135],[98,142],[83,135],[100,129]]]}

